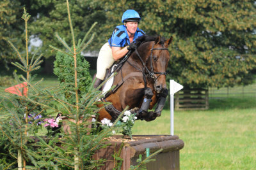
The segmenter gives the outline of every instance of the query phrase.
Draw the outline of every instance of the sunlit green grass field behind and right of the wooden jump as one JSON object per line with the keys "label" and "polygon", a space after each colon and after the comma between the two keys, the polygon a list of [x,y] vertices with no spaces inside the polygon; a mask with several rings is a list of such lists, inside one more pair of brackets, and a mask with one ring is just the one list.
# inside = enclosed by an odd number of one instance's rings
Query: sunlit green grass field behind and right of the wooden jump
{"label": "sunlit green grass field behind and right of the wooden jump", "polygon": [[[255,97],[211,99],[210,110],[175,111],[174,134],[185,143],[180,169],[255,169]],[[170,134],[170,111],[138,120],[133,134]]]}

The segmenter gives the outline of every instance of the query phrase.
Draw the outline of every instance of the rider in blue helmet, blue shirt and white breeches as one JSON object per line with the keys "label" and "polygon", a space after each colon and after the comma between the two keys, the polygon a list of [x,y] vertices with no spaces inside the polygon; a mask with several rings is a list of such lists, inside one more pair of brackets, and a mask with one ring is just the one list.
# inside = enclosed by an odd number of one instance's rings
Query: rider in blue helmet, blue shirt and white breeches
{"label": "rider in blue helmet, blue shirt and white breeches", "polygon": [[132,43],[139,36],[145,34],[138,28],[141,18],[137,11],[127,10],[122,16],[122,23],[115,27],[108,43],[105,43],[99,52],[97,59],[97,74],[93,84],[97,88],[104,80],[106,69],[111,67],[116,60],[121,59],[129,50],[135,50],[137,46]]}

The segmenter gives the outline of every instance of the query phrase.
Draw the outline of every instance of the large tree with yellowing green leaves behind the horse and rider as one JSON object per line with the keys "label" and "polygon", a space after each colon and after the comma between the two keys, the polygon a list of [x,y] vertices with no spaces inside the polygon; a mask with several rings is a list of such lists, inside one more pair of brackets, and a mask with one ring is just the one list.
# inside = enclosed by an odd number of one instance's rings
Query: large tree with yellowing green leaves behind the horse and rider
{"label": "large tree with yellowing green leaves behind the horse and rider", "polygon": [[[89,3],[89,2],[88,2]],[[173,36],[168,78],[186,87],[222,87],[252,83],[256,68],[255,1],[92,1],[107,18],[102,39],[134,9],[147,34]],[[104,31],[105,30],[105,31]],[[100,42],[100,41],[99,41]],[[100,43],[103,43],[102,41]]]}

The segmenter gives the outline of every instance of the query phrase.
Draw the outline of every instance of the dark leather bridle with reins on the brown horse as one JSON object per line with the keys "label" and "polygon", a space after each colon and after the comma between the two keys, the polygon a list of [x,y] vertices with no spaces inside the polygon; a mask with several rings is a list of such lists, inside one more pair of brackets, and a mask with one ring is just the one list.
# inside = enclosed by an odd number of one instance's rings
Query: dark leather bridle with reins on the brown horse
{"label": "dark leather bridle with reins on the brown horse", "polygon": [[[156,82],[156,80],[157,80],[157,78],[159,78],[159,76],[161,76],[161,75],[166,76],[166,71],[165,71],[165,72],[156,72],[156,71],[154,71],[153,61],[152,61],[152,58],[153,58],[153,51],[154,51],[154,50],[168,50],[168,48],[154,48],[154,43],[153,43],[152,48],[151,48],[151,50],[150,50],[150,51],[151,51],[151,52],[150,52],[150,56],[147,58],[147,60],[146,60],[145,62],[144,62],[143,59],[141,58],[140,53],[138,52],[138,50],[137,50],[137,48],[136,48],[135,52],[136,52],[136,54],[138,55],[138,58],[139,58],[140,61],[141,61],[141,64],[142,64],[142,66],[143,66],[142,69],[140,69],[140,68],[134,66],[133,64],[131,64],[131,63],[127,60],[131,66],[135,67],[136,69],[138,69],[139,71],[142,72],[142,74],[143,74],[143,80],[144,80],[144,82],[145,82],[145,87],[146,87],[146,85],[147,85],[147,83],[146,83],[146,82],[147,82],[147,81],[146,81],[146,77],[153,78],[153,79],[154,79],[154,82]],[[150,69],[148,69],[148,67],[147,67],[148,59],[150,59]],[[159,75],[158,75],[157,77],[155,77],[154,74],[159,74]]]}

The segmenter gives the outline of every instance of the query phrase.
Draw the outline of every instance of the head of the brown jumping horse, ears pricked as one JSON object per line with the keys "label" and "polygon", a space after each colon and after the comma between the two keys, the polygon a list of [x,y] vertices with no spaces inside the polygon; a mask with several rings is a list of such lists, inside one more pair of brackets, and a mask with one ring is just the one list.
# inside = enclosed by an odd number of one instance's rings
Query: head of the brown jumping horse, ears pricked
{"label": "head of the brown jumping horse, ears pricked", "polygon": [[164,40],[161,36],[150,43],[150,55],[147,58],[147,68],[149,76],[154,79],[154,90],[157,93],[166,89],[166,69],[170,60],[168,45],[172,42],[170,39]]}

